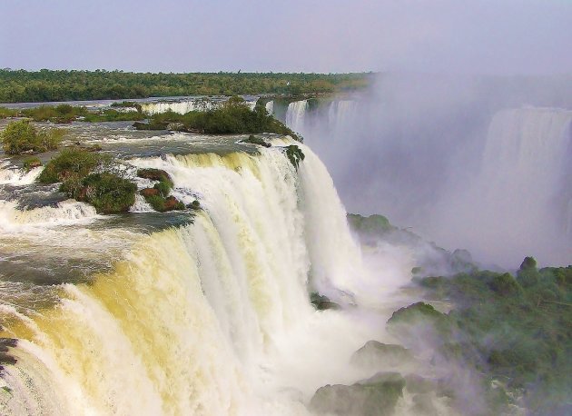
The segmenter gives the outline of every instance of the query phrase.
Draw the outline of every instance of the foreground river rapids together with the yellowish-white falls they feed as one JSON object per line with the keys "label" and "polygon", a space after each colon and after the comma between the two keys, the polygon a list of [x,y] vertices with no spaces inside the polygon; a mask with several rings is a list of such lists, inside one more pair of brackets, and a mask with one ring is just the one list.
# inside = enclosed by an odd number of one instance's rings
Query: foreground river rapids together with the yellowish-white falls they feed
{"label": "foreground river rapids together with the yellowish-white falls they feed", "polygon": [[[319,387],[371,375],[350,367],[351,353],[384,336],[399,301],[352,312],[391,290],[378,257],[375,276],[362,262],[310,148],[298,144],[296,170],[282,151],[290,139],[265,149],[125,134],[87,142],[123,154],[126,169],[165,170],[173,194],[202,210],[167,228],[149,228],[171,217],[142,201],[111,217],[73,200],[23,210],[25,193],[54,190],[33,184],[39,171],[3,165],[0,319],[18,339],[0,378],[3,414],[310,414]],[[407,275],[408,259],[385,264]],[[317,289],[350,310],[316,311]]]}

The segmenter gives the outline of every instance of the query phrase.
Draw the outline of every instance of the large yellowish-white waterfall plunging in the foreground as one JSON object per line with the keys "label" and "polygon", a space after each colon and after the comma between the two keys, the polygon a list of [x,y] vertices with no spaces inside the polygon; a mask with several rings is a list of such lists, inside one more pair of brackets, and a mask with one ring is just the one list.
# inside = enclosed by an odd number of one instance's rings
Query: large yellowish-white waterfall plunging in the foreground
{"label": "large yellowish-white waterfall plunging in the foreground", "polygon": [[1,336],[19,340],[0,377],[3,413],[308,414],[318,387],[352,380],[334,370],[378,327],[314,311],[308,291],[359,298],[359,249],[318,157],[296,143],[296,171],[282,151],[292,142],[272,144],[130,161],[167,171],[174,194],[202,210],[141,235],[111,272],[61,285],[53,306],[0,305]]}

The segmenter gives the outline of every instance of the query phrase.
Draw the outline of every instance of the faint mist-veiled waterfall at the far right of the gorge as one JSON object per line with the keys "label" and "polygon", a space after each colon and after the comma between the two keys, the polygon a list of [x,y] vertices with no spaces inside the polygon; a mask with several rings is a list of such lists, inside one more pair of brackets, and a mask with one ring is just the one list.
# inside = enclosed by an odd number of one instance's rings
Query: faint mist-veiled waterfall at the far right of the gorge
{"label": "faint mist-veiled waterfall at the far right of the gorge", "polygon": [[[568,264],[571,125],[572,112],[558,109],[496,114],[480,172],[455,203],[440,208],[442,222],[489,261],[518,264],[535,255],[543,264]],[[450,243],[450,235],[437,233],[440,242]]]}

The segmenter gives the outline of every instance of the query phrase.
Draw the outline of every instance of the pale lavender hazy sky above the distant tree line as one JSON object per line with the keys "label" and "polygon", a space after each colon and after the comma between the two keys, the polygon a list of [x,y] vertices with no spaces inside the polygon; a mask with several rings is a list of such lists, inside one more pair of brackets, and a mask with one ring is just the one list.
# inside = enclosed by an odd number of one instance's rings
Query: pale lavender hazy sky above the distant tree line
{"label": "pale lavender hazy sky above the distant tree line", "polygon": [[572,0],[2,0],[0,67],[572,73]]}

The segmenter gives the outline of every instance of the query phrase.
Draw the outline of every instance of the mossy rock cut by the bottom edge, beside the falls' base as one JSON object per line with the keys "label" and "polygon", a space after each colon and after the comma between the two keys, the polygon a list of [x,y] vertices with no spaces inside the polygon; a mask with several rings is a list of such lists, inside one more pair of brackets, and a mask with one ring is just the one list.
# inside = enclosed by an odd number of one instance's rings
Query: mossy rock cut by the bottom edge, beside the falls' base
{"label": "mossy rock cut by the bottom edge, beside the falls' base", "polygon": [[397,372],[380,372],[350,386],[321,387],[311,398],[310,409],[318,414],[390,416],[403,395],[405,380]]}

